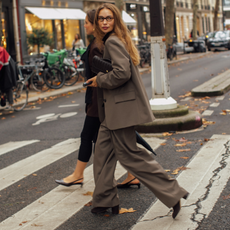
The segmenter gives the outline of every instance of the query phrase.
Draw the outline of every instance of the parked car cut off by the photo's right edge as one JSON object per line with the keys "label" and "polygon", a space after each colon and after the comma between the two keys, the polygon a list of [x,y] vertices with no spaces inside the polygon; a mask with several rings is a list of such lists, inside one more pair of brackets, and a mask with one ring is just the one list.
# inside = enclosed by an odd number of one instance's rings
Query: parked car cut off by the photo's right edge
{"label": "parked car cut off by the photo's right edge", "polygon": [[229,31],[217,31],[208,41],[208,50],[230,50],[230,34]]}

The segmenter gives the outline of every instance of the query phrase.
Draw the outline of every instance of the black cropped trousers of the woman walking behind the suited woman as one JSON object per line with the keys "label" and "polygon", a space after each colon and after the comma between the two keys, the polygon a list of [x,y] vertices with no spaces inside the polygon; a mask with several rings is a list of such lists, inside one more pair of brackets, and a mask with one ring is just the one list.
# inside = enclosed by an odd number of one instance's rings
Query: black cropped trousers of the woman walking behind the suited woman
{"label": "black cropped trousers of the woman walking behind the suited woman", "polygon": [[83,130],[81,132],[81,145],[78,160],[88,162],[92,154],[93,142],[96,143],[98,130],[100,127],[98,117],[85,117]]}

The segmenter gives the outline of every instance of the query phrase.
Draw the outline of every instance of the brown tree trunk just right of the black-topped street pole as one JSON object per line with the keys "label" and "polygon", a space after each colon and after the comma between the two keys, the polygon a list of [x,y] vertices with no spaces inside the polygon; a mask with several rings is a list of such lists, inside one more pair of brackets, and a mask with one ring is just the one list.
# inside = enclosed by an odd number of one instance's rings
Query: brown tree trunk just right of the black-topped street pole
{"label": "brown tree trunk just right of the black-topped street pole", "polygon": [[174,0],[166,0],[165,9],[165,39],[166,47],[172,44],[174,35]]}

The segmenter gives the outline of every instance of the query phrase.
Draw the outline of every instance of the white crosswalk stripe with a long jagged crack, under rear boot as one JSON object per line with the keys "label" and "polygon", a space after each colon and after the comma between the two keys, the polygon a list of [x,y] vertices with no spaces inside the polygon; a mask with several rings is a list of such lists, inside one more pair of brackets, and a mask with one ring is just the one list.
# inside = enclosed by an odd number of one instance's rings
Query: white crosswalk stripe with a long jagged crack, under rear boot
{"label": "white crosswalk stripe with a long jagged crack, under rear boot", "polygon": [[[177,180],[190,192],[187,200],[181,200],[182,210],[176,220],[171,212],[157,200],[148,212],[132,227],[132,230],[196,229],[207,218],[229,179],[230,135],[213,135]],[[224,167],[225,166],[225,167]],[[194,218],[194,221],[192,220]]]}

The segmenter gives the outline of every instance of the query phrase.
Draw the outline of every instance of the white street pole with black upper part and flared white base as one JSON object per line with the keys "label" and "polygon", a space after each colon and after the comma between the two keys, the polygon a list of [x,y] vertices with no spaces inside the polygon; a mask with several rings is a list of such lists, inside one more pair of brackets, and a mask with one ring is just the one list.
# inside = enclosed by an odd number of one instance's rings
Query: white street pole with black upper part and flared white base
{"label": "white street pole with black upper part and flared white base", "polygon": [[152,70],[152,99],[150,105],[152,110],[175,109],[177,108],[177,102],[170,97],[161,0],[151,0],[149,2]]}

